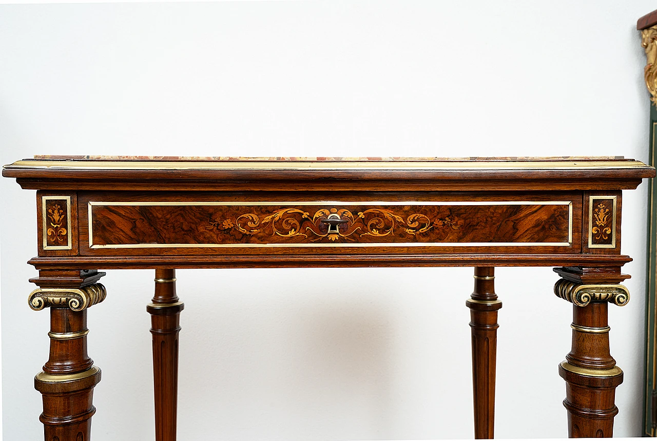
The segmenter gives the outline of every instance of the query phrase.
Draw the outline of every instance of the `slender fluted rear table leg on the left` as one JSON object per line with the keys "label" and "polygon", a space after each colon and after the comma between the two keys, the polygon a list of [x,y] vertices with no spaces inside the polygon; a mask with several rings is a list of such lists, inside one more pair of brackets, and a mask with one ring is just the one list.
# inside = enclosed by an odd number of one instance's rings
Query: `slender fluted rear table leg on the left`
{"label": "slender fluted rear table leg on the left", "polygon": [[147,306],[153,335],[155,439],[175,441],[178,400],[178,333],[185,305],[175,293],[175,270],[155,270],[155,295]]}

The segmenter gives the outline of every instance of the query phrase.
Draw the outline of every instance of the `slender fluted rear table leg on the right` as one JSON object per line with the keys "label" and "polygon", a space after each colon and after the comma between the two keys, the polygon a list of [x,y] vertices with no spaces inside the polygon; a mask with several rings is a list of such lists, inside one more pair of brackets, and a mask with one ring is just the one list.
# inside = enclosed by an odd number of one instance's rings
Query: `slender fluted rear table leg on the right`
{"label": "slender fluted rear table leg on the right", "polygon": [[472,328],[472,389],[474,392],[474,438],[493,438],[495,425],[495,361],[497,355],[497,310],[495,268],[474,268],[474,292],[466,301]]}

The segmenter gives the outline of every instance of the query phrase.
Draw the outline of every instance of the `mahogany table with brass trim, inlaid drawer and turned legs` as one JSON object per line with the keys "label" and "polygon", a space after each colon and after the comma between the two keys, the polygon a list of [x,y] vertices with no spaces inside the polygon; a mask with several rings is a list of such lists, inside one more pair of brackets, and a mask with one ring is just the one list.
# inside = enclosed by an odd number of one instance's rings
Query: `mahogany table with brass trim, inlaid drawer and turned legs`
{"label": "mahogany table with brass trim, inlaid drawer and turned legs", "polygon": [[572,437],[612,436],[623,372],[609,352],[609,303],[629,293],[621,190],[655,170],[611,158],[127,158],[43,156],[3,176],[37,190],[39,270],[50,356],[35,379],[47,441],[88,441],[101,369],[87,355],[98,269],[154,268],[156,439],[175,440],[179,316],[174,268],[474,266],[476,438],[493,437],[495,266],[555,266],[573,304],[559,364]]}

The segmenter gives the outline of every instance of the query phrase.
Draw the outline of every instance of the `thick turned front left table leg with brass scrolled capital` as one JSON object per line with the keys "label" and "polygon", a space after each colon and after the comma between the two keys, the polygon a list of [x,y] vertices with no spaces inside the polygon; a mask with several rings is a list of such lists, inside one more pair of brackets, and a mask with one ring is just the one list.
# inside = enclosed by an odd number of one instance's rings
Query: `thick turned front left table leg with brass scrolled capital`
{"label": "thick turned front left table leg with brass scrolled capital", "polygon": [[104,273],[91,271],[41,274],[28,299],[34,310],[51,308],[50,356],[34,387],[43,396],[41,423],[46,441],[89,441],[93,388],[101,369],[87,354],[87,308],[105,298],[94,282]]}

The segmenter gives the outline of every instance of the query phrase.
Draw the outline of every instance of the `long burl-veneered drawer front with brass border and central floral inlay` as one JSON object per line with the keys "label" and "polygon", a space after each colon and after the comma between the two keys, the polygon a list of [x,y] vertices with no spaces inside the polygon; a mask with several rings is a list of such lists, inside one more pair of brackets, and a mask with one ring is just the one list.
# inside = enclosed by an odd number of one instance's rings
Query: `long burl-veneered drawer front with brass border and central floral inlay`
{"label": "long burl-veneered drawer front with brass border and central floral inlay", "polygon": [[[505,196],[479,200],[460,196],[385,195],[381,200],[336,198],[295,200],[289,194],[240,201],[197,195],[80,199],[81,243],[85,254],[376,252],[407,247],[414,252],[467,252],[468,247],[522,248],[526,252],[579,251],[581,194]],[[424,198],[422,198],[424,196]],[[262,199],[262,196],[260,196]],[[214,251],[211,251],[215,249]],[[304,251],[304,249],[306,251]]]}

